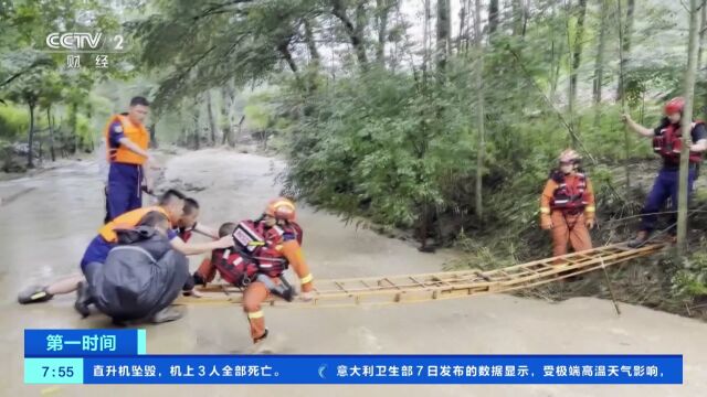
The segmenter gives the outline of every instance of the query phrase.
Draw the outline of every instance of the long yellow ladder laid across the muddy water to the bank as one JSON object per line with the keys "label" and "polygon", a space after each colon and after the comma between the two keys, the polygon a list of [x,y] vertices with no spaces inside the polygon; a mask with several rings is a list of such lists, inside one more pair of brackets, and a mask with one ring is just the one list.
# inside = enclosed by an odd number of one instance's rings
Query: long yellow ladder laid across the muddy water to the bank
{"label": "long yellow ladder laid across the muddy water to the bank", "polygon": [[[286,302],[278,297],[272,297],[266,304],[292,308],[350,307],[425,302],[509,292],[653,255],[666,246],[667,243],[655,243],[634,249],[622,243],[485,271],[469,269],[315,280],[314,299],[310,301],[304,302],[295,298],[295,301]],[[198,290],[202,293],[201,298],[180,297],[175,304],[232,304],[241,303],[243,300],[242,291],[228,285],[211,285]]]}

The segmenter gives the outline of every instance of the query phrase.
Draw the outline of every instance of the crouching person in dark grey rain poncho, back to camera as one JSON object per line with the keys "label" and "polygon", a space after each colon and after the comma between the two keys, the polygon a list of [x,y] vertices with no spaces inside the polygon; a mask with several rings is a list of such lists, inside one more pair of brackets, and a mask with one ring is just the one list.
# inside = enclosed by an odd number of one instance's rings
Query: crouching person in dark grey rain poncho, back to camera
{"label": "crouching person in dark grey rain poncho, back to camera", "polygon": [[167,237],[169,230],[167,216],[157,211],[147,213],[137,227],[116,229],[118,243],[105,262],[85,266],[86,282],[77,291],[85,309],[81,314],[93,303],[116,324],[181,318],[169,305],[182,289],[191,290],[193,281],[187,257]]}

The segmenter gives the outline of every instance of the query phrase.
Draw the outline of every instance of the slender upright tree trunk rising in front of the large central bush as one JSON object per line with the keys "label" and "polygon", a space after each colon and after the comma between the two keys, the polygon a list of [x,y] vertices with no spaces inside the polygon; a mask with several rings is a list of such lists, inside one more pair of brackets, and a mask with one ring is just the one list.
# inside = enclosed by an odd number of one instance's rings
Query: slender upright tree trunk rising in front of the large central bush
{"label": "slender upright tree trunk rising in front of the large central bush", "polygon": [[476,217],[478,222],[483,222],[484,202],[482,195],[482,179],[484,176],[484,152],[486,150],[485,130],[484,130],[484,47],[482,43],[482,0],[476,0],[476,12],[474,15],[474,35],[476,36],[476,51],[478,56],[476,66],[476,122],[478,128],[478,151],[476,152]]}

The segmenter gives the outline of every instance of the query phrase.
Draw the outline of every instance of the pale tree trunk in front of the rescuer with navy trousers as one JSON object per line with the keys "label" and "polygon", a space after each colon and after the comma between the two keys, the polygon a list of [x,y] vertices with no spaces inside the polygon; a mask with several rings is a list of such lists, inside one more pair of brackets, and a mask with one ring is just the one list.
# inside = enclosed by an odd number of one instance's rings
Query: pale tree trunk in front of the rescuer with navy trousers
{"label": "pale tree trunk in front of the rescuer with navy trousers", "polygon": [[683,147],[680,150],[679,193],[677,195],[677,250],[680,256],[687,254],[687,198],[689,147],[692,144],[692,121],[697,75],[697,0],[689,1],[689,40],[687,44],[687,74],[685,75],[685,109],[683,110]]}

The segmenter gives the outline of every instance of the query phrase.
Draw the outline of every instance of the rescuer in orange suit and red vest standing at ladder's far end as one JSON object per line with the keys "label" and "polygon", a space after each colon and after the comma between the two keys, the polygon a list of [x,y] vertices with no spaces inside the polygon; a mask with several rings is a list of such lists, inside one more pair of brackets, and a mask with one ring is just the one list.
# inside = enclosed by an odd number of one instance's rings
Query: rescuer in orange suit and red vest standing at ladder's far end
{"label": "rescuer in orange suit and red vest standing at ladder's far end", "polygon": [[540,197],[540,227],[551,232],[553,257],[567,254],[568,243],[576,253],[592,248],[589,229],[594,227],[594,192],[579,170],[580,162],[574,150],[564,150]]}

